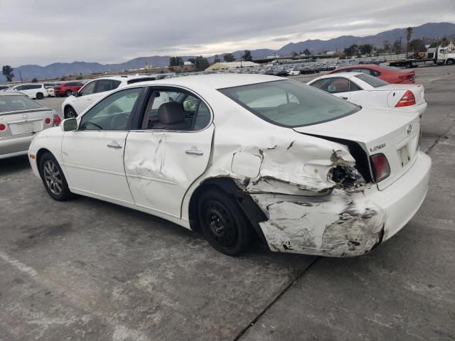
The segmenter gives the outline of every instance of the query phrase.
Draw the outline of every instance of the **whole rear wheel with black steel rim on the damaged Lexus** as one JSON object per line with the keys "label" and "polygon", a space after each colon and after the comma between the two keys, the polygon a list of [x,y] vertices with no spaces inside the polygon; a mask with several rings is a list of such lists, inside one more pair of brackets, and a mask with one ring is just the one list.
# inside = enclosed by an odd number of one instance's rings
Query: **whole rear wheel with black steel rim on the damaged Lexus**
{"label": "whole rear wheel with black steel rim on the damaged Lexus", "polygon": [[252,229],[237,202],[222,190],[210,189],[198,200],[198,221],[210,245],[228,256],[250,249]]}

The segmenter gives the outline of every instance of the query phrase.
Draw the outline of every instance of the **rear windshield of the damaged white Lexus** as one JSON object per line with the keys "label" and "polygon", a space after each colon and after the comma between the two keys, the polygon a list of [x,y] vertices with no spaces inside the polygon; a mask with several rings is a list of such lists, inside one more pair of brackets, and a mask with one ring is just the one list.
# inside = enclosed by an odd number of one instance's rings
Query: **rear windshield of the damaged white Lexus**
{"label": "rear windshield of the damaged white Lexus", "polygon": [[228,87],[219,91],[253,114],[279,126],[319,124],[360,110],[358,105],[292,80]]}

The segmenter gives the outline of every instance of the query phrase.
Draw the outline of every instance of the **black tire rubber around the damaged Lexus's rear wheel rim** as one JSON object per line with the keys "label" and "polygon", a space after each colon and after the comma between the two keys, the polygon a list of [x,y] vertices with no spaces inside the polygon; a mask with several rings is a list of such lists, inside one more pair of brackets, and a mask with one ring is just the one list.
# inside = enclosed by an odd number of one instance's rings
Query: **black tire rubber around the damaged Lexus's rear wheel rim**
{"label": "black tire rubber around the damaged Lexus's rear wheel rim", "polygon": [[[218,244],[218,242],[216,242],[210,234],[210,227],[206,226],[204,222],[203,210],[201,209],[201,206],[205,200],[210,199],[218,200],[221,204],[223,204],[226,210],[229,211],[232,220],[235,222],[235,227],[237,229],[237,242],[232,248],[228,249]],[[204,234],[205,239],[208,240],[209,244],[223,254],[227,254],[229,256],[240,256],[240,254],[245,253],[250,248],[252,240],[250,222],[247,220],[247,217],[245,217],[245,213],[242,212],[237,202],[235,202],[232,197],[224,193],[222,190],[210,189],[200,195],[198,200],[198,223],[200,230]]]}

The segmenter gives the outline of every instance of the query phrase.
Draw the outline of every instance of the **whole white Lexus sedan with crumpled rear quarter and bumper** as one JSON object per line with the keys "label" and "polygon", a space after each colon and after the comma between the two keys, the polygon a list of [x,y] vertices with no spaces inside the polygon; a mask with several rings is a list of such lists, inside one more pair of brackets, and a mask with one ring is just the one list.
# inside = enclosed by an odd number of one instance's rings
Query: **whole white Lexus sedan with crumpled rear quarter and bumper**
{"label": "whole white Lexus sedan with crumpled rear quarter and bumper", "polygon": [[198,75],[115,90],[38,134],[33,172],[73,193],[201,230],[238,255],[365,254],[427,193],[431,160],[414,112],[362,108],[294,80]]}

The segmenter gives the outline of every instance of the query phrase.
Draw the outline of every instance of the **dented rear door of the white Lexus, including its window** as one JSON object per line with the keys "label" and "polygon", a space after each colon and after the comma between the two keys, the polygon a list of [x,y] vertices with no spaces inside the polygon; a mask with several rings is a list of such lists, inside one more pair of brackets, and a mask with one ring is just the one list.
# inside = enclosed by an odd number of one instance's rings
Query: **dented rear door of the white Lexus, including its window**
{"label": "dented rear door of the white Lexus, including its window", "polygon": [[191,94],[155,91],[146,111],[142,129],[127,136],[129,188],[139,207],[181,217],[183,197],[210,159],[210,110]]}

